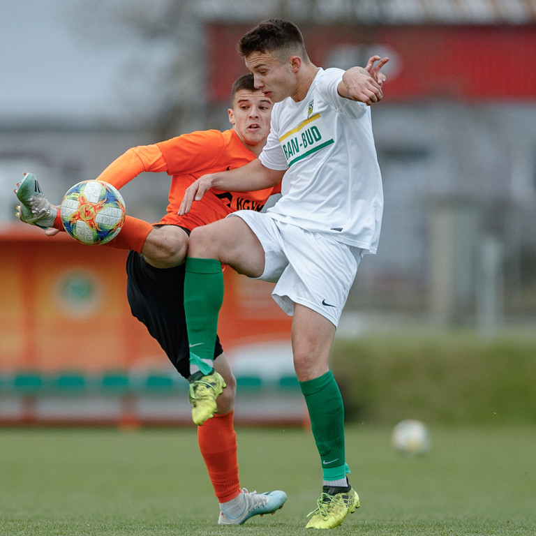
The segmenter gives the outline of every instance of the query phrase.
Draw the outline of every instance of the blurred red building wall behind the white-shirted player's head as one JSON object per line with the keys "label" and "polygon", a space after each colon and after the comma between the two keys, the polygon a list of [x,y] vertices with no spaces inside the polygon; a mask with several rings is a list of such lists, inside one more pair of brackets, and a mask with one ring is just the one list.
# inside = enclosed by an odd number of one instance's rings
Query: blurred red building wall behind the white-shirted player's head
{"label": "blurred red building wall behind the white-shirted player's head", "polygon": [[[220,102],[247,72],[236,52],[251,26],[209,28],[209,89]],[[439,96],[463,101],[536,98],[536,26],[301,27],[318,66],[341,45],[371,46],[392,57],[386,103]]]}

